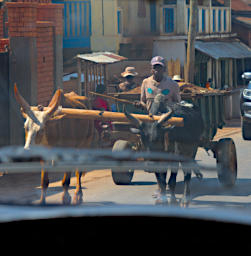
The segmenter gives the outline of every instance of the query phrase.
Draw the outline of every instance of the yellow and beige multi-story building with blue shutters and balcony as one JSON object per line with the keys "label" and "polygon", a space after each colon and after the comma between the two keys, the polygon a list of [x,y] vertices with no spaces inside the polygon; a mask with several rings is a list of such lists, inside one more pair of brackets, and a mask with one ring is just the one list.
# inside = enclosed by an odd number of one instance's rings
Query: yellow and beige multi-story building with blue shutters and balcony
{"label": "yellow and beige multi-story building with blue shutters and balcony", "polygon": [[[54,0],[58,2],[61,0]],[[189,0],[85,0],[64,3],[64,50],[113,51],[129,59],[162,55],[186,63]],[[236,40],[231,0],[199,0],[195,83],[236,87],[251,58]]]}

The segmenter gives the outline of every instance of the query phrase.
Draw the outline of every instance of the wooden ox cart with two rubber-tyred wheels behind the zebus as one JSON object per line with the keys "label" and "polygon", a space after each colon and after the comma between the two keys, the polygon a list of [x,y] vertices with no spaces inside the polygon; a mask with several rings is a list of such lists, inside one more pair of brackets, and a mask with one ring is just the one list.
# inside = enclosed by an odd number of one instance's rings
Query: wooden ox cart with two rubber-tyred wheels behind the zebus
{"label": "wooden ox cart with two rubber-tyred wheels behind the zebus", "polygon": [[[214,140],[214,136],[218,129],[222,129],[224,122],[224,91],[204,91],[181,93],[182,100],[197,104],[200,107],[204,130],[200,140],[199,147],[206,151],[211,150],[217,163],[217,175],[219,182],[223,186],[231,187],[235,184],[237,178],[237,156],[235,143],[231,138],[223,138]],[[139,93],[117,93],[112,94],[113,97],[123,100],[139,100]],[[123,103],[117,102],[118,112],[123,112]],[[144,114],[141,110],[133,105],[128,105],[127,111],[131,113]],[[146,113],[145,113],[146,114]],[[127,132],[126,132],[127,131]],[[113,151],[141,150],[140,143],[135,136],[133,137],[128,130],[128,124],[115,122],[114,131],[116,141],[113,145]],[[121,136],[120,136],[121,135]],[[128,137],[126,137],[128,136]],[[126,170],[124,172],[116,172],[112,170],[113,181],[117,185],[130,184],[133,178],[134,170]]]}

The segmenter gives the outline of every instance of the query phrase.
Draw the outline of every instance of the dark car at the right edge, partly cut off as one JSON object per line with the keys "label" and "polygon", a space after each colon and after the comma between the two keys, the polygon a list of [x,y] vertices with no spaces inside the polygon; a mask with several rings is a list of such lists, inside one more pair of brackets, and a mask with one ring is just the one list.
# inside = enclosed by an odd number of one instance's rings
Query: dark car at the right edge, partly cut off
{"label": "dark car at the right edge, partly cut off", "polygon": [[240,96],[242,137],[244,140],[251,140],[251,72],[243,73],[242,78],[248,81]]}

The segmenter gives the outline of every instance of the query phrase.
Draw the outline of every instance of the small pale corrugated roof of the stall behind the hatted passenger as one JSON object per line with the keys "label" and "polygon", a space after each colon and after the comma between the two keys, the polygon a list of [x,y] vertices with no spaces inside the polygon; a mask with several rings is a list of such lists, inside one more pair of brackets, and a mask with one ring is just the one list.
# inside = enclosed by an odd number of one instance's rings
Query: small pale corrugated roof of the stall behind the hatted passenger
{"label": "small pale corrugated roof of the stall behind the hatted passenger", "polygon": [[126,57],[117,55],[112,52],[94,52],[90,54],[78,54],[77,58],[99,64],[111,64],[122,60],[127,60]]}

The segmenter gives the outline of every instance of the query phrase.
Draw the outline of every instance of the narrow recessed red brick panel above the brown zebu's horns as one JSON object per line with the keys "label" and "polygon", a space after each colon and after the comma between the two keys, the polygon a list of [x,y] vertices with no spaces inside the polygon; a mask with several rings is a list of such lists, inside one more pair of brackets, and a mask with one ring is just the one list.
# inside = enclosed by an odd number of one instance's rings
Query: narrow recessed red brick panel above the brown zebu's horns
{"label": "narrow recessed red brick panel above the brown zebu's horns", "polygon": [[37,102],[48,105],[54,89],[53,24],[37,22]]}

